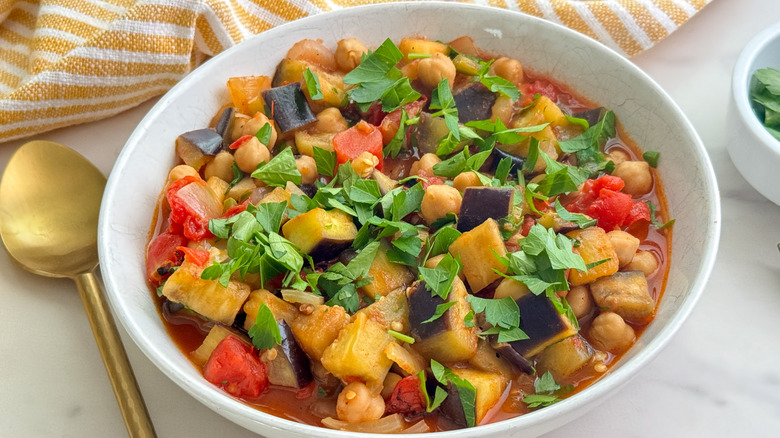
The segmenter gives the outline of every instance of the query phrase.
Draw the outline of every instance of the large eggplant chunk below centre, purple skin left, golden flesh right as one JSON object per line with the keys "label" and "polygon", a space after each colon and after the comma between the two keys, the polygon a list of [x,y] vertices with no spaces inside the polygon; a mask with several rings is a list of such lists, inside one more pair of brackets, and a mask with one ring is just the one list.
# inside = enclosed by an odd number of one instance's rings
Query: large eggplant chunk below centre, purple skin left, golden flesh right
{"label": "large eggplant chunk below centre, purple skin left, golden flesh right", "polygon": [[444,300],[433,295],[425,283],[418,281],[409,289],[409,334],[415,339],[414,349],[427,359],[443,363],[468,360],[477,351],[476,327],[466,327],[465,318],[471,311],[466,301],[468,292],[463,282],[455,278],[447,297],[454,302],[444,314],[430,322],[436,307]]}

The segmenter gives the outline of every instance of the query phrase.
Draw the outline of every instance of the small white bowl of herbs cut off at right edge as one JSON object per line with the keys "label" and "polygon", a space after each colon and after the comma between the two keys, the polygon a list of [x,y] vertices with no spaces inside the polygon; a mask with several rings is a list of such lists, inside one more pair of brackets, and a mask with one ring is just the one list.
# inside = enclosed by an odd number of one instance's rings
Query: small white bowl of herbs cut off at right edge
{"label": "small white bowl of herbs cut off at right edge", "polygon": [[743,177],[767,199],[780,205],[780,140],[774,138],[753,111],[750,84],[756,70],[780,70],[780,23],[764,29],[742,50],[731,79],[727,149]]}

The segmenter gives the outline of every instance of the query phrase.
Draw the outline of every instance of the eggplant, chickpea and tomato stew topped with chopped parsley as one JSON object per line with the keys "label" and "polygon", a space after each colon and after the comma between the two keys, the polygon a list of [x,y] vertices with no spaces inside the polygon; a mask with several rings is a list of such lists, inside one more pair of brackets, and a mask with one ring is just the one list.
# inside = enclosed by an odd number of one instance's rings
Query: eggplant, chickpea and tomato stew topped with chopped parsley
{"label": "eggplant, chickpea and tomato stew topped with chopped parsley", "polygon": [[176,139],[146,273],[203,377],[355,432],[474,427],[608,372],[653,319],[658,153],[469,37],[296,43]]}

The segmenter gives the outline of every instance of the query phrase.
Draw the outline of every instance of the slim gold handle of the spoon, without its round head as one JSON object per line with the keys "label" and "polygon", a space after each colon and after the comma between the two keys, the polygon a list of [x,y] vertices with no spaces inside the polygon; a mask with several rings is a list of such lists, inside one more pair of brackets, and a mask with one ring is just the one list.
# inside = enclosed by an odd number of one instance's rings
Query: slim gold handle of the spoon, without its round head
{"label": "slim gold handle of the spoon, without its round head", "polygon": [[127,360],[127,353],[95,275],[88,272],[74,277],[74,280],[87,311],[89,325],[92,326],[92,334],[95,335],[108,378],[114,388],[128,435],[130,438],[156,437],[149,412]]}

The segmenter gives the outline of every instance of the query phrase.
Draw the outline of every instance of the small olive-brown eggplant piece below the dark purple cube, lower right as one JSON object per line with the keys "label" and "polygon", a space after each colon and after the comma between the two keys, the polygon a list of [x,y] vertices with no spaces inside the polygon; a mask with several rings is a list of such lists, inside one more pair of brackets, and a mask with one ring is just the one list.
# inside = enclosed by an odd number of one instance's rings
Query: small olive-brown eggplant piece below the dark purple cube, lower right
{"label": "small olive-brown eggplant piece below the dark purple cube, lower right", "polygon": [[585,368],[594,353],[595,350],[585,338],[580,335],[570,336],[539,353],[536,370],[539,374],[549,371],[556,382],[567,381]]}

